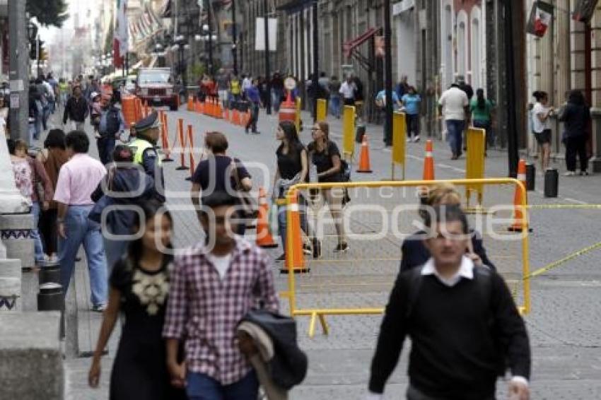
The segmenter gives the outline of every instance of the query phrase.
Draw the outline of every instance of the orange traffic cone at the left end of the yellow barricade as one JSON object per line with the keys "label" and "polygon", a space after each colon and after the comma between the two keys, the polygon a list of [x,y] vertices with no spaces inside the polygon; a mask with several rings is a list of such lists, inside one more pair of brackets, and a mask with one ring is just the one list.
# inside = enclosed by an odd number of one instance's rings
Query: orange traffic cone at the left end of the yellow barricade
{"label": "orange traffic cone at the left end of the yellow barricade", "polygon": [[285,249],[286,252],[286,267],[280,269],[281,273],[305,273],[309,272],[310,269],[305,267],[305,254],[303,253],[303,233],[301,232],[301,214],[300,208],[298,207],[298,192],[294,192],[289,197],[290,204],[288,204],[288,224],[290,226],[286,228],[286,243],[288,247]]}

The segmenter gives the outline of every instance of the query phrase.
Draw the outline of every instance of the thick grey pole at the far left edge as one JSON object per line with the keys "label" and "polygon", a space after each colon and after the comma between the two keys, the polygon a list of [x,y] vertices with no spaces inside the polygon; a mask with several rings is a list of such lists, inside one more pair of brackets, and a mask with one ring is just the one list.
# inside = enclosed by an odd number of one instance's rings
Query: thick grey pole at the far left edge
{"label": "thick grey pole at the far left edge", "polygon": [[11,85],[10,122],[11,139],[29,142],[28,117],[28,66],[27,20],[25,1],[8,1],[8,37],[10,47],[10,69],[8,76]]}

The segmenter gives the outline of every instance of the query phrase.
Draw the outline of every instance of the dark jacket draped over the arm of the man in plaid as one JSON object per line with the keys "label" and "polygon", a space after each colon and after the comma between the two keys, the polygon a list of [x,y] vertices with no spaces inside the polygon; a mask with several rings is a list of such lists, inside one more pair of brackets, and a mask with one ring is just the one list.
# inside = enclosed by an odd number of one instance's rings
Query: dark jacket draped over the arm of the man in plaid
{"label": "dark jacket draped over the arm of the man in plaid", "polygon": [[303,382],[308,359],[298,348],[294,319],[267,310],[253,310],[243,321],[261,327],[274,343],[274,358],[269,363],[274,384],[288,390]]}

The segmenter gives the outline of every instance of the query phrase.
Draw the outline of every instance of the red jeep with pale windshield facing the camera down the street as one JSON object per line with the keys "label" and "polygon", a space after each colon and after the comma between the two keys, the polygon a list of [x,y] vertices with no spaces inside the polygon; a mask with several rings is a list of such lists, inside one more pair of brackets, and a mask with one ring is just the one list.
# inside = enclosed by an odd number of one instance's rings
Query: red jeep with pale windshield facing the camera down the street
{"label": "red jeep with pale windshield facing the camera down the street", "polygon": [[136,95],[148,105],[168,105],[171,111],[177,111],[179,106],[170,68],[139,69]]}

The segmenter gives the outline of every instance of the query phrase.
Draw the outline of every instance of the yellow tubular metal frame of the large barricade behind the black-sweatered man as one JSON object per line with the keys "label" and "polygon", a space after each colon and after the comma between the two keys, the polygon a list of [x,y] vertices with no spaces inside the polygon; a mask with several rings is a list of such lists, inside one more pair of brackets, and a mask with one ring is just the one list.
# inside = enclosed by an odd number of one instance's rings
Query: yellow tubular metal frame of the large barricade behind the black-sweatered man
{"label": "yellow tubular metal frame of the large barricade behind the black-sweatered man", "polygon": [[[527,205],[526,205],[526,189],[522,182],[511,179],[511,178],[495,178],[495,179],[479,179],[479,180],[439,180],[438,182],[447,182],[450,184],[455,184],[457,186],[472,186],[475,184],[479,185],[512,185],[519,192],[520,196],[520,204],[523,207],[524,218],[521,221],[523,225],[522,233],[520,233],[520,242],[521,242],[521,266],[522,270],[520,274],[522,277],[527,277],[530,275],[530,261],[528,259],[529,249],[528,249],[528,230],[527,230]],[[337,183],[315,183],[315,184],[296,184],[291,187],[286,194],[286,203],[287,203],[287,219],[288,219],[288,227],[291,226],[291,218],[292,213],[294,211],[292,207],[289,205],[293,203],[292,199],[296,196],[297,191],[309,191],[313,189],[331,189],[334,187],[344,187],[346,189],[361,189],[361,188],[403,188],[403,187],[424,187],[432,184],[431,181],[380,181],[380,182],[337,182]],[[288,232],[288,240],[286,240],[286,252],[289,252],[289,257],[293,258],[293,233],[291,230],[287,230]],[[512,234],[513,235],[513,234]],[[345,261],[348,262],[348,261]],[[313,271],[312,271],[313,273]],[[299,276],[299,281],[303,279],[307,279],[312,275],[312,273],[304,274],[303,276]],[[320,324],[322,327],[322,331],[324,334],[329,333],[329,327],[327,326],[327,322],[325,320],[326,315],[366,315],[366,314],[382,314],[384,312],[384,307],[298,307],[297,305],[297,293],[296,293],[296,279],[293,272],[293,266],[288,265],[288,290],[286,292],[280,293],[282,297],[288,298],[289,302],[289,310],[291,317],[298,316],[309,316],[310,324],[309,324],[309,336],[313,337],[315,334],[315,324],[317,323],[317,318],[320,320]],[[520,283],[523,284],[523,304],[518,305],[518,310],[522,314],[527,314],[530,312],[530,279],[520,279]],[[360,285],[361,283],[356,283]],[[384,305],[383,305],[384,306]]]}

